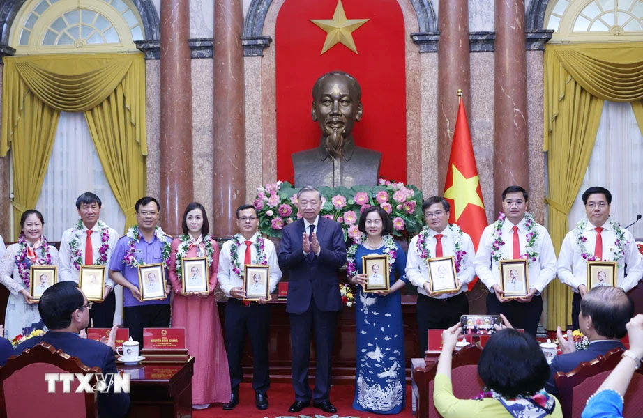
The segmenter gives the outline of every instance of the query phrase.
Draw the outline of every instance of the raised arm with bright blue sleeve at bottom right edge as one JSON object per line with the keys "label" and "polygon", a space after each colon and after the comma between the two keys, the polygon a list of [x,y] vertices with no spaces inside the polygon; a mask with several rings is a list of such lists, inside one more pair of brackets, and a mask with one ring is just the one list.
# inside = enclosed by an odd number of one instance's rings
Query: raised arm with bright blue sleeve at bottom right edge
{"label": "raised arm with bright blue sleeve at bottom right edge", "polygon": [[639,314],[627,323],[630,349],[603,385],[587,401],[582,418],[623,417],[623,395],[634,372],[641,366],[643,357],[643,315]]}

